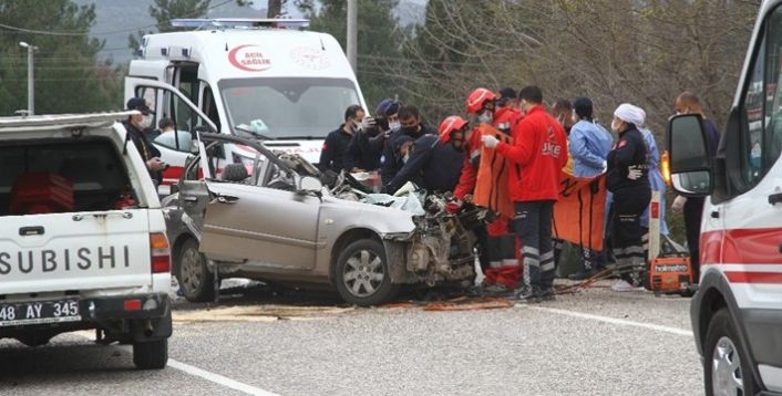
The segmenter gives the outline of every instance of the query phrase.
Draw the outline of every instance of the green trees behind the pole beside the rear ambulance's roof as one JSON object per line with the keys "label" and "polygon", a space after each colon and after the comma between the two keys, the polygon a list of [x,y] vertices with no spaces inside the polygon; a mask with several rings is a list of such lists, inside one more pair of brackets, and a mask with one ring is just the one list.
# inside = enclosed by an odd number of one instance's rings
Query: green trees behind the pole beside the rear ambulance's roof
{"label": "green trees behind the pole beside the rear ambulance's roof", "polygon": [[[358,72],[364,98],[373,110],[385,97],[399,93],[397,82],[383,75],[380,64],[399,62],[400,48],[407,33],[398,27],[393,10],[398,0],[359,0],[358,9]],[[348,13],[346,0],[321,1],[319,12],[311,1],[297,1],[296,6],[310,19],[310,30],[333,35],[346,49]]]}

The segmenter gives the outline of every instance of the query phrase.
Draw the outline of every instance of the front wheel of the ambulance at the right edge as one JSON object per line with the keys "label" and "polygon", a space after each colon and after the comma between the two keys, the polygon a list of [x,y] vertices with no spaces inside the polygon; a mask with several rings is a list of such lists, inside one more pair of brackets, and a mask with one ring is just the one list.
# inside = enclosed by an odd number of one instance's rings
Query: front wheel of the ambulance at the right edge
{"label": "front wheel of the ambulance at the right edge", "polygon": [[730,312],[719,310],[709,322],[703,348],[707,396],[757,394],[748,358]]}

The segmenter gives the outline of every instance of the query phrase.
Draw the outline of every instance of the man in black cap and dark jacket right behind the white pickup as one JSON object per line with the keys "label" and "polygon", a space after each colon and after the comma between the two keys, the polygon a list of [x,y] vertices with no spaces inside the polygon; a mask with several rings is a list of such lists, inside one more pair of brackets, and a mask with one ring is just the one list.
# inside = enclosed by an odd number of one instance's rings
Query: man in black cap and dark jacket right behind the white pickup
{"label": "man in black cap and dark jacket right behind the white pickup", "polygon": [[161,150],[155,147],[146,137],[145,131],[152,126],[152,115],[155,114],[146,104],[143,97],[133,97],[127,101],[127,110],[138,111],[140,114],[132,115],[122,122],[127,132],[127,138],[136,146],[138,154],[146,163],[146,169],[150,176],[157,186],[163,181],[162,171],[168,167],[168,164],[161,159]]}

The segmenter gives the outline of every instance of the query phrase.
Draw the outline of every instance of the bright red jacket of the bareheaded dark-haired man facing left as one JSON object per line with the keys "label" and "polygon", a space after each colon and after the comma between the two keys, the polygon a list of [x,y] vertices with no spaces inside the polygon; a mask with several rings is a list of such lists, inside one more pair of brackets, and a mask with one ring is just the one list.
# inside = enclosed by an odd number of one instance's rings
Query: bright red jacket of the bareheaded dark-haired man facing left
{"label": "bright red jacket of the bareheaded dark-haired man facing left", "polygon": [[508,177],[514,201],[558,199],[567,137],[543,106],[531,108],[513,127],[513,145],[500,143],[496,150],[514,165]]}

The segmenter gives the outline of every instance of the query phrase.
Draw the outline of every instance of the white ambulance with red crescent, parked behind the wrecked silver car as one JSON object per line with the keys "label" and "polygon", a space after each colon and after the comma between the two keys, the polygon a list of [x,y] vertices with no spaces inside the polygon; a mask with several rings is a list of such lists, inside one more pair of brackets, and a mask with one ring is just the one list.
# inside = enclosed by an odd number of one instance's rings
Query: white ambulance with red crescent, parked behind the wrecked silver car
{"label": "white ambulance with red crescent, parked behind the wrecked silver car", "polygon": [[[154,144],[176,183],[192,153],[192,133],[253,135],[274,150],[317,163],[326,135],[353,104],[367,107],[348,59],[333,37],[302,30],[307,20],[174,20],[185,31],[147,34],[125,79],[125,100],[145,97],[176,132]],[[227,163],[256,153],[231,146]],[[222,164],[218,164],[218,169]]]}

